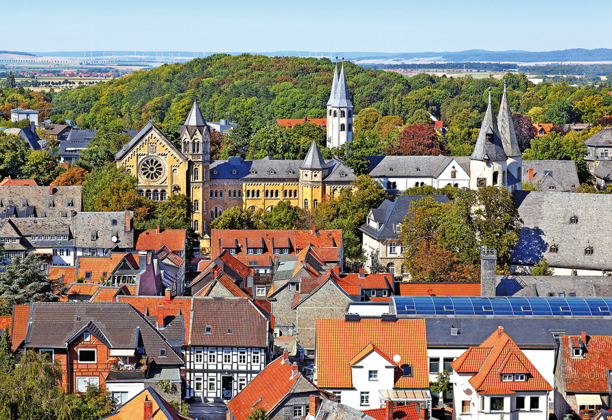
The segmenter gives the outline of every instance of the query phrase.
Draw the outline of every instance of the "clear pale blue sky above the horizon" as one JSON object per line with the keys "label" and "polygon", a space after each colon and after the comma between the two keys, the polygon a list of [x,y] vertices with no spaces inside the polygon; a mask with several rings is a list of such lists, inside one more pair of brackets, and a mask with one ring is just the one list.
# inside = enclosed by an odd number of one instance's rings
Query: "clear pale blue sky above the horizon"
{"label": "clear pale blue sky above the horizon", "polygon": [[31,0],[11,9],[0,49],[14,51],[612,47],[602,0]]}

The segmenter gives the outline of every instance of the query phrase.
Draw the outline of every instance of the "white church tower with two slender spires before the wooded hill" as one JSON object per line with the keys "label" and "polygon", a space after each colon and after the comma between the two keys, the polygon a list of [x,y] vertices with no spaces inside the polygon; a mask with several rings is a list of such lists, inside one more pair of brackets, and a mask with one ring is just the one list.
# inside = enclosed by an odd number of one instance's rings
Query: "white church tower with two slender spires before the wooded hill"
{"label": "white church tower with two slender spires before the wooded hill", "polygon": [[338,76],[338,65],[333,71],[331,94],[327,101],[327,147],[336,148],[353,141],[353,104],[346,87],[344,62]]}

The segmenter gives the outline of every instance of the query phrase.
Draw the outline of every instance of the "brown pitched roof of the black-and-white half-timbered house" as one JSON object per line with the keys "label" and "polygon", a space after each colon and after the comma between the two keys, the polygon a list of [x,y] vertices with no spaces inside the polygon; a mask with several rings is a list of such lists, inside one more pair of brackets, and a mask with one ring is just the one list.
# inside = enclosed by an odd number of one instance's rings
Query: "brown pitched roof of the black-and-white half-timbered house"
{"label": "brown pitched roof of the black-and-white half-timbered house", "polygon": [[[270,315],[250,299],[195,298],[191,325],[191,345],[268,347]],[[207,325],[211,327],[210,333],[206,331]]]}

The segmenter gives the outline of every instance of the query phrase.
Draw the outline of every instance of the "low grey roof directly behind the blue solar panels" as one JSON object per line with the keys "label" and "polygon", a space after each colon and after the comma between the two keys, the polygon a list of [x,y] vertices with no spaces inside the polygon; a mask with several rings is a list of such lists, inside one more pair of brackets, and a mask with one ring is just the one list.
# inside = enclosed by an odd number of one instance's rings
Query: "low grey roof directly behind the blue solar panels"
{"label": "low grey roof directly behind the blue solar panels", "polygon": [[612,296],[611,276],[496,276],[496,296]]}

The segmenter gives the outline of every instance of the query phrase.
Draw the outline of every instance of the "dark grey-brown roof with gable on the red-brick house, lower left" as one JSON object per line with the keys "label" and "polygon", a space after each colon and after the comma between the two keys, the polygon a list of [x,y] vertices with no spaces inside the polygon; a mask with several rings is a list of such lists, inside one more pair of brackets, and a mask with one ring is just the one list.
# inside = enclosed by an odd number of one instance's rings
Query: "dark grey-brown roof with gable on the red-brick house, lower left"
{"label": "dark grey-brown roof with gable on the red-brick house, lower left", "polygon": [[145,353],[158,365],[184,363],[156,326],[128,303],[32,303],[25,347],[65,349],[85,328],[115,349],[136,349],[142,340]]}

